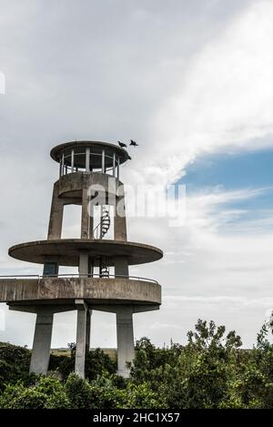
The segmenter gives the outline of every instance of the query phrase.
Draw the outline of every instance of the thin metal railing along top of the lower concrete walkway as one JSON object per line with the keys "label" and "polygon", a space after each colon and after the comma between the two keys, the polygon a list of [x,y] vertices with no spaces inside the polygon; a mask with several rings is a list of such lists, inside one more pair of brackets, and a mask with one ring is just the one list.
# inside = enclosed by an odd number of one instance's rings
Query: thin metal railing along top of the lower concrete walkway
{"label": "thin metal railing along top of the lower concrete walkway", "polygon": [[42,280],[42,279],[46,279],[46,278],[60,278],[60,279],[69,279],[69,278],[87,278],[87,279],[127,279],[127,280],[138,280],[138,281],[149,281],[151,283],[156,283],[158,284],[157,280],[153,280],[153,279],[147,279],[147,278],[142,278],[142,277],[138,277],[138,276],[126,276],[124,274],[109,274],[109,276],[107,278],[102,278],[100,274],[79,274],[79,273],[75,273],[75,274],[53,274],[53,275],[39,275],[39,274],[20,274],[20,275],[2,275],[0,276],[0,280],[1,279],[37,279],[37,280]]}

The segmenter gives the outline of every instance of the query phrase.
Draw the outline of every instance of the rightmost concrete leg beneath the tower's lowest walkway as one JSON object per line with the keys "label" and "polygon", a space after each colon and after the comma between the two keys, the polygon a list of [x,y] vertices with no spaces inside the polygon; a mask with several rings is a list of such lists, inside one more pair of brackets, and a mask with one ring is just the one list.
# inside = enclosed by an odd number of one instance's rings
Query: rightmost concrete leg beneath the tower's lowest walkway
{"label": "rightmost concrete leg beneath the tower's lowest walkway", "polygon": [[128,378],[129,370],[126,361],[133,361],[135,357],[133,309],[119,307],[116,310],[116,338],[117,338],[117,373]]}

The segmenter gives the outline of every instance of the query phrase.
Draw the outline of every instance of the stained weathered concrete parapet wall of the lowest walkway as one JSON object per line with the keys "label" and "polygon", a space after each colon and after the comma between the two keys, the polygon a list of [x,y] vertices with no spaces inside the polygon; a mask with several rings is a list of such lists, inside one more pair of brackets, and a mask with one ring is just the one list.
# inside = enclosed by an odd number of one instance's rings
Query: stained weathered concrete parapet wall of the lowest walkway
{"label": "stained weathered concrete parapet wall of the lowest walkway", "polygon": [[161,303],[161,287],[145,280],[123,278],[43,278],[41,280],[0,280],[0,302],[89,300],[91,304]]}

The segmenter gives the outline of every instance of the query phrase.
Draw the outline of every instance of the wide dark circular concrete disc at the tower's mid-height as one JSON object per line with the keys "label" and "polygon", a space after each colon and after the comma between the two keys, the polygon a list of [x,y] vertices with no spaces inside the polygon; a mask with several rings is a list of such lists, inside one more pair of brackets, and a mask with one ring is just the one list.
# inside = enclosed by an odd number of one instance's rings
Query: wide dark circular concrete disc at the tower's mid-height
{"label": "wide dark circular concrete disc at the tower's mid-height", "polygon": [[99,265],[100,257],[106,257],[109,267],[115,265],[116,257],[126,258],[128,265],[146,264],[163,257],[161,249],[123,240],[107,239],[52,239],[37,240],[15,245],[8,254],[15,258],[37,264],[44,264],[48,257],[55,257],[60,265],[77,267],[81,251]]}

